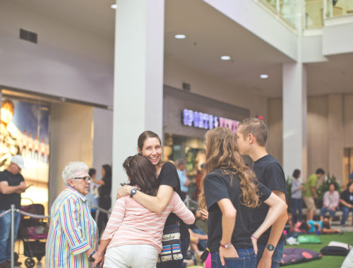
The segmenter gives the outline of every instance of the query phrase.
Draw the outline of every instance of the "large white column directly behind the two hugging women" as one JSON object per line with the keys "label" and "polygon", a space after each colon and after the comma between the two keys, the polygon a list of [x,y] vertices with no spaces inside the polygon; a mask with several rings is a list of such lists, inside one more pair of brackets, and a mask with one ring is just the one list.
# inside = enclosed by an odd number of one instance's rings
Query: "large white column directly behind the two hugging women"
{"label": "large white column directly behind the two hugging women", "polygon": [[[164,0],[117,0],[114,58],[112,203],[127,181],[124,159],[138,135],[162,138]],[[104,131],[104,130],[102,130]]]}

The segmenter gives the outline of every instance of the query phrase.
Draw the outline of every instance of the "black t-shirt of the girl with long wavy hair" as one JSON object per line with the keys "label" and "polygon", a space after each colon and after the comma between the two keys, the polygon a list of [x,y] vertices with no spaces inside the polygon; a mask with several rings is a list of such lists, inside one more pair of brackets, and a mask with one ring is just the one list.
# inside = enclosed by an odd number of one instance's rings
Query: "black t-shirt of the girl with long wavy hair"
{"label": "black t-shirt of the girl with long wavy hair", "polygon": [[[249,248],[251,244],[251,208],[246,207],[241,200],[241,189],[239,188],[239,178],[233,176],[232,185],[229,175],[222,173],[220,169],[208,173],[203,182],[205,189],[206,204],[208,207],[208,248],[210,252],[218,251],[220,240],[222,239],[222,211],[217,202],[227,198],[232,201],[237,209],[237,218],[234,231],[232,233],[232,244],[235,248]],[[271,191],[262,183],[258,184],[261,202],[268,199]]]}

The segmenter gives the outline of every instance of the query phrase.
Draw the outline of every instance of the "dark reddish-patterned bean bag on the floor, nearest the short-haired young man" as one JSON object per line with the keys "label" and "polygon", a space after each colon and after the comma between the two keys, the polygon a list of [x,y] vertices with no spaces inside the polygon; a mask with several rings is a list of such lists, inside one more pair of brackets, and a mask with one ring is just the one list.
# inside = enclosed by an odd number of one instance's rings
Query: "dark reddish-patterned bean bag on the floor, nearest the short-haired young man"
{"label": "dark reddish-patterned bean bag on the floor, nearest the short-haired young man", "polygon": [[306,248],[285,248],[281,261],[281,266],[296,264],[299,262],[310,262],[311,260],[318,260],[323,255],[313,250]]}

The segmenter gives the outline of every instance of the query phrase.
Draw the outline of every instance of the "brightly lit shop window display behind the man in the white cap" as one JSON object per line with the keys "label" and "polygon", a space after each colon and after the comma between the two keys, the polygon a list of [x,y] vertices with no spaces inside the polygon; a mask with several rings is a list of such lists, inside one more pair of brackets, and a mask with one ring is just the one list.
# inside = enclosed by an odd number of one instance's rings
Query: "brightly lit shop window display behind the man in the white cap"
{"label": "brightly lit shop window display behind the man in the white cap", "polygon": [[21,173],[32,187],[22,194],[47,209],[49,179],[49,106],[14,98],[1,101],[0,171],[21,154]]}

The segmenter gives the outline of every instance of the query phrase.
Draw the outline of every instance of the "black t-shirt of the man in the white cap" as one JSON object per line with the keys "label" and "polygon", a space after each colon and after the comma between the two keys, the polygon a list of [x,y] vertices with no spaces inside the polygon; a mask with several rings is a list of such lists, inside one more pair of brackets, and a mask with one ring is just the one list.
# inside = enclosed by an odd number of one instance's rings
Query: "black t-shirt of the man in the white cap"
{"label": "black t-shirt of the man in the white cap", "polygon": [[[8,170],[0,172],[0,181],[7,181],[8,186],[20,185],[21,181],[25,181],[20,173],[13,175]],[[0,210],[10,209],[11,204],[16,205],[16,208],[20,209],[21,195],[20,193],[11,193],[9,195],[3,195],[0,193]]]}

